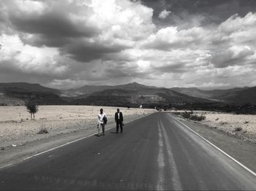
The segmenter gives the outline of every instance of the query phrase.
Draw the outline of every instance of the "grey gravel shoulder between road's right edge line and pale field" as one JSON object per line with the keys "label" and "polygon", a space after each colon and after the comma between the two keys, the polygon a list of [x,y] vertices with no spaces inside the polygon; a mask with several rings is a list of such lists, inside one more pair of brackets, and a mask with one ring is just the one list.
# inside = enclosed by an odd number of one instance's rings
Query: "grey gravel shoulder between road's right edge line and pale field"
{"label": "grey gravel shoulder between road's right edge line and pale field", "polygon": [[194,122],[185,120],[176,114],[172,114],[177,120],[189,126],[192,130],[199,133],[205,139],[216,145],[231,157],[246,165],[252,171],[256,172],[256,142],[248,139],[241,139],[235,134],[228,133],[218,128],[212,128],[203,122]]}

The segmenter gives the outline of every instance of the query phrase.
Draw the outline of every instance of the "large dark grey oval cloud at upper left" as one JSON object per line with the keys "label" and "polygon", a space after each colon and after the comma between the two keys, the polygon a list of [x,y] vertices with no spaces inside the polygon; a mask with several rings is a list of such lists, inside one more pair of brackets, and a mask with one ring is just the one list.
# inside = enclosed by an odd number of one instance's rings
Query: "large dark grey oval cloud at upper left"
{"label": "large dark grey oval cloud at upper left", "polygon": [[32,35],[29,38],[24,36],[24,43],[38,47],[62,47],[72,39],[99,34],[97,28],[83,22],[75,23],[64,12],[44,12],[41,15],[11,13],[10,22],[16,30]]}

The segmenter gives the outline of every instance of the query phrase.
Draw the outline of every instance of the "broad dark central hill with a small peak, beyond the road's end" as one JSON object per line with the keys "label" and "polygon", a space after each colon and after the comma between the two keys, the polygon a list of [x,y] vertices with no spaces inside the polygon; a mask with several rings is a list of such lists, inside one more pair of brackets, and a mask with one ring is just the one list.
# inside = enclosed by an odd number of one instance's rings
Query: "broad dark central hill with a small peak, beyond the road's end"
{"label": "broad dark central hill with a small peak, beyond the road's end", "polygon": [[159,104],[209,103],[212,101],[195,98],[173,90],[160,87],[148,87],[138,83],[118,85],[115,89],[97,91],[90,95],[80,95],[72,104],[103,106],[157,106]]}

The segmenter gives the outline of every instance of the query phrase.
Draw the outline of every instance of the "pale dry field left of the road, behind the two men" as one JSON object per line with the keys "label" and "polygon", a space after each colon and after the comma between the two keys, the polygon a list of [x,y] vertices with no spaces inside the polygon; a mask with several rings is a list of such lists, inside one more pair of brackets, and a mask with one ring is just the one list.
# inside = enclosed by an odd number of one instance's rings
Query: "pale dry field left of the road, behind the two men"
{"label": "pale dry field left of the road, behind the two men", "polygon": [[[0,147],[14,147],[28,141],[44,139],[61,133],[91,130],[97,124],[97,114],[103,108],[108,117],[108,124],[114,122],[116,107],[105,106],[39,106],[35,120],[30,120],[30,114],[25,106],[0,106]],[[135,120],[154,112],[151,109],[120,108],[124,122]],[[49,133],[37,134],[45,128]]]}

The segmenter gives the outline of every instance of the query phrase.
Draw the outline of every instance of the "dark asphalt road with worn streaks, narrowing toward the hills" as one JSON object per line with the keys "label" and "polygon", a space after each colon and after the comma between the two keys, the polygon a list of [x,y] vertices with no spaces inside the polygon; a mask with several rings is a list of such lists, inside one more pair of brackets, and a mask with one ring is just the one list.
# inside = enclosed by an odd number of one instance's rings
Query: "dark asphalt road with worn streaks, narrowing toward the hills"
{"label": "dark asphalt road with worn streaks, narrowing toward the hills", "polygon": [[256,176],[155,113],[0,170],[0,190],[255,190]]}

